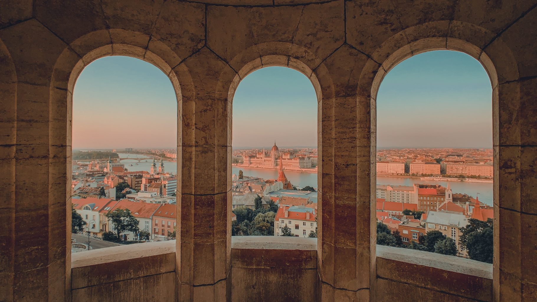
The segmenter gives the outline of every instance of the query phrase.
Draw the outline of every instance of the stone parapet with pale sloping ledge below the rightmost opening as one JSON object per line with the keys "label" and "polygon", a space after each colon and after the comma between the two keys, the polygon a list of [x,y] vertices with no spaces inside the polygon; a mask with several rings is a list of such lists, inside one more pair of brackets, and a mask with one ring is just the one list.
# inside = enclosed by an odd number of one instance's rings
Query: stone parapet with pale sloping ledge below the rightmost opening
{"label": "stone parapet with pale sloping ledge below the rightmost opening", "polygon": [[492,300],[492,264],[456,256],[377,245],[376,277],[376,290],[393,298],[413,288],[436,300]]}

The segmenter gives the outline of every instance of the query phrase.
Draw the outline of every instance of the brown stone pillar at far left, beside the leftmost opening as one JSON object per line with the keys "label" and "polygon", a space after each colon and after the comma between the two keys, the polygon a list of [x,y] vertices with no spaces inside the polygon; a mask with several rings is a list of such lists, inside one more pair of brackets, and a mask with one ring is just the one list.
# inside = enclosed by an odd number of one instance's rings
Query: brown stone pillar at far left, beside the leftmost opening
{"label": "brown stone pillar at far left, beside the leftmost opening", "polygon": [[[5,145],[1,148],[2,163],[9,165],[0,176],[7,191],[0,205],[0,257],[8,256],[1,264],[5,288],[0,295],[7,301],[67,301],[71,265],[66,211],[68,92],[51,80],[67,45],[35,19],[3,28],[0,40],[17,75],[16,90],[8,85],[0,92],[2,98],[8,95],[2,99],[7,101],[3,117],[7,120],[2,123],[6,129],[2,129]],[[8,72],[2,68],[3,76]],[[63,106],[50,101],[56,93],[63,95]],[[14,116],[16,123],[10,120]]]}

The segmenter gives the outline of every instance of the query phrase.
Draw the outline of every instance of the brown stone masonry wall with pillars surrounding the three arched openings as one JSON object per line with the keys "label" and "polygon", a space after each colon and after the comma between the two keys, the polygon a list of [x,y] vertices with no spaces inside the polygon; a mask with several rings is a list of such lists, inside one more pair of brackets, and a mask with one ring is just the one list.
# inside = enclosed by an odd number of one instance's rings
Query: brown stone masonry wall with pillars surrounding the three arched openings
{"label": "brown stone masonry wall with pillars surrounding the three arched openings", "polygon": [[492,300],[533,300],[536,6],[534,0],[0,2],[0,297],[70,300],[72,90],[85,65],[127,55],[155,64],[177,94],[177,300],[233,297],[233,92],[249,72],[273,65],[304,73],[318,98],[317,300],[378,300],[375,284],[383,288],[386,281],[377,280],[375,263],[376,92],[405,58],[452,49],[479,60],[493,89]]}

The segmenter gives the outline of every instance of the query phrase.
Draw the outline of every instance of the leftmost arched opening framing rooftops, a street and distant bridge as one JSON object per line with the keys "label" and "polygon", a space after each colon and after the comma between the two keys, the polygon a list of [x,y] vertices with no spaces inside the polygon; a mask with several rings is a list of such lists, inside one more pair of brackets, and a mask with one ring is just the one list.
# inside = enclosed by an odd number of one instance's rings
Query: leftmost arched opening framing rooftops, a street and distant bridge
{"label": "leftmost arched opening framing rooftops, a street and distant bridge", "polygon": [[126,56],[76,72],[71,239],[91,249],[175,239],[176,81]]}

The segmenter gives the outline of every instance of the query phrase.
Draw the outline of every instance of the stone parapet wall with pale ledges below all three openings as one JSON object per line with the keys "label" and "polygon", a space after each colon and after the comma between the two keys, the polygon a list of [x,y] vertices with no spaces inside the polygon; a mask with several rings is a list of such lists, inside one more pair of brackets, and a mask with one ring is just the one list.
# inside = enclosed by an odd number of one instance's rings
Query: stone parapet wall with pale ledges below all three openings
{"label": "stone parapet wall with pale ledges below all three openings", "polygon": [[[376,247],[378,301],[492,301],[492,265]],[[72,301],[175,301],[175,241],[72,255]],[[231,301],[315,301],[317,239],[232,237]],[[209,293],[209,296],[212,292]]]}

